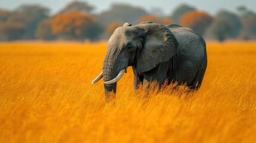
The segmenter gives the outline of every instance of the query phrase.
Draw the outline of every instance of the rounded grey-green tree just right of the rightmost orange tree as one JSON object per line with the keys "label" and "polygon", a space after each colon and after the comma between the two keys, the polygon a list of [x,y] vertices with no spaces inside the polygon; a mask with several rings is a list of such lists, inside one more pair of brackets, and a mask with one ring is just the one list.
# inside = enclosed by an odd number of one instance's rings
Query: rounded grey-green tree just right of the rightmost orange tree
{"label": "rounded grey-green tree just right of the rightmost orange tree", "polygon": [[210,31],[219,41],[224,41],[227,38],[237,38],[241,28],[242,24],[238,15],[220,11],[214,18]]}

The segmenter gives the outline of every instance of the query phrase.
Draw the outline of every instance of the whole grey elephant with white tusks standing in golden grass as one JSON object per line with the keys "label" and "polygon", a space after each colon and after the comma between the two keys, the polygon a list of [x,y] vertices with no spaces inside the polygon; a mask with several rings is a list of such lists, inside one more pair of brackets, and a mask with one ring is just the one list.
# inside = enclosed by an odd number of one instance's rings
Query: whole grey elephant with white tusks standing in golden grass
{"label": "whole grey elephant with white tusks standing in golden grass", "polygon": [[125,23],[110,37],[103,71],[92,81],[103,77],[106,101],[128,66],[134,71],[134,89],[153,81],[161,88],[164,80],[199,89],[207,66],[206,44],[198,33],[176,24]]}

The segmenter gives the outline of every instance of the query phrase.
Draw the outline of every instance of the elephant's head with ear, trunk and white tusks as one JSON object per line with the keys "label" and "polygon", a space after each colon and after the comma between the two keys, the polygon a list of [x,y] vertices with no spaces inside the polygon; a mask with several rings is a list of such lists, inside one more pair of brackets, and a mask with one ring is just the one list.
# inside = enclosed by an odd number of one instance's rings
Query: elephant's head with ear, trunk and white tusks
{"label": "elephant's head with ear, trunk and white tusks", "polygon": [[178,42],[172,32],[161,24],[142,23],[136,26],[125,23],[118,27],[107,43],[103,71],[92,84],[103,77],[106,101],[110,92],[116,92],[116,82],[128,66],[138,73],[149,71],[159,63],[168,61],[176,52]]}

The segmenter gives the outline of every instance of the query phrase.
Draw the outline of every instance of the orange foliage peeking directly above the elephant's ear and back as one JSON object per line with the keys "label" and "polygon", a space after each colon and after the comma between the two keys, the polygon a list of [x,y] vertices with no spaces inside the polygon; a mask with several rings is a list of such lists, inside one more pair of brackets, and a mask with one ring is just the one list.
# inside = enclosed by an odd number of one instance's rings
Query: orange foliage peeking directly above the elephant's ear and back
{"label": "orange foliage peeking directly above the elephant's ear and back", "polygon": [[144,15],[144,16],[140,17],[140,19],[138,20],[138,23],[141,23],[143,21],[151,21],[153,23],[159,23],[159,24],[163,24],[163,25],[174,23],[168,17],[160,19],[160,18],[156,17],[156,15]]}

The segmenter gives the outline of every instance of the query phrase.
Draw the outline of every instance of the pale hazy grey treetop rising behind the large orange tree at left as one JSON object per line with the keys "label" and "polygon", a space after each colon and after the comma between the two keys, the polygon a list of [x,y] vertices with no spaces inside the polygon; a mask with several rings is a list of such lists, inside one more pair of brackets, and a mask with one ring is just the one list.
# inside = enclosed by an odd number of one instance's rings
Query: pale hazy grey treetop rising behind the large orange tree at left
{"label": "pale hazy grey treetop rising behind the large orange tree at left", "polygon": [[60,11],[60,13],[69,13],[72,11],[79,11],[81,13],[91,14],[91,12],[94,9],[95,8],[91,5],[88,5],[87,2],[73,1],[73,2],[70,2],[68,5],[66,5],[66,7],[64,7],[63,10]]}

